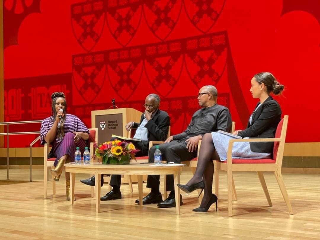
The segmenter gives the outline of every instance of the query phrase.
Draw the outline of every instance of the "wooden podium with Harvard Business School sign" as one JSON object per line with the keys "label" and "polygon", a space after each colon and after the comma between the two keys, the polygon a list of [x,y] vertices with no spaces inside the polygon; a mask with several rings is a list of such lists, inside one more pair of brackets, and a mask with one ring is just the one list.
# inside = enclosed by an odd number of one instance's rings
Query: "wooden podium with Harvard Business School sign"
{"label": "wooden podium with Harvard Business School sign", "polygon": [[[98,128],[98,142],[109,141],[111,135],[130,137],[125,130],[125,124],[133,121],[140,123],[142,112],[133,108],[112,108],[91,111],[91,127]],[[121,182],[128,183],[128,175],[122,176]],[[145,177],[143,180],[146,180]],[[137,176],[132,175],[132,182],[138,182]]]}

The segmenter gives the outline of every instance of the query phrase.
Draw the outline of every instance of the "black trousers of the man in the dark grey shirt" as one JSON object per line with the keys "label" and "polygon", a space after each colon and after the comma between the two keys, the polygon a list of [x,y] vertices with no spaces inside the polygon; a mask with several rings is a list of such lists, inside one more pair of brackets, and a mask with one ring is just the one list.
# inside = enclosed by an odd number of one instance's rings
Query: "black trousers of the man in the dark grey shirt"
{"label": "black trousers of the man in the dark grey shirt", "polygon": [[[189,152],[187,149],[187,142],[180,140],[173,140],[164,144],[158,145],[161,151],[162,160],[167,162],[180,163],[181,161],[188,161],[197,156],[197,149]],[[150,148],[149,162],[153,163],[156,146]],[[173,175],[166,175],[166,191],[174,191]],[[148,175],[147,188],[160,190],[160,175]]]}

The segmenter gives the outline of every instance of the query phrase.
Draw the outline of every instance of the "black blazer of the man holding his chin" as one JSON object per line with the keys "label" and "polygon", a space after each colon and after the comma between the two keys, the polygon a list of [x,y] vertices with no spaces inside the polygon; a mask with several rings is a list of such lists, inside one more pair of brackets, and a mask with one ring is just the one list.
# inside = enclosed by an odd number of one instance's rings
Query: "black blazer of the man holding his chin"
{"label": "black blazer of the man holding his chin", "polygon": [[[140,118],[140,123],[134,123],[133,128],[138,128],[144,118],[145,117],[143,113]],[[158,109],[155,115],[145,125],[145,127],[148,129],[148,141],[166,140],[169,131],[169,126],[169,115],[165,111]]]}

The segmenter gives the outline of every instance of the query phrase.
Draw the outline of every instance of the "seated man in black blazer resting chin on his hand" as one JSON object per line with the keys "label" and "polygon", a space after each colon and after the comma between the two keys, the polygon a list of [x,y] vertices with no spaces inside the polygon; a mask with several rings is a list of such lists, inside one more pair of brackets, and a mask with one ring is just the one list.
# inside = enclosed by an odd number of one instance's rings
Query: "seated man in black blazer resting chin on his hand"
{"label": "seated man in black blazer resting chin on his hand", "polygon": [[[157,94],[149,94],[143,106],[146,108],[146,110],[141,115],[140,123],[129,122],[125,125],[125,129],[127,131],[129,131],[131,128],[137,128],[133,138],[140,139],[142,141],[132,141],[135,148],[140,150],[136,153],[136,157],[148,156],[149,141],[164,141],[167,138],[170,126],[169,115],[159,109],[160,97]],[[111,140],[114,139],[115,138],[112,138]],[[94,176],[80,181],[90,186],[95,185]],[[101,179],[101,186],[102,184],[103,177]],[[112,186],[112,190],[105,196],[100,197],[101,201],[121,199],[121,175],[112,175],[110,185]]]}

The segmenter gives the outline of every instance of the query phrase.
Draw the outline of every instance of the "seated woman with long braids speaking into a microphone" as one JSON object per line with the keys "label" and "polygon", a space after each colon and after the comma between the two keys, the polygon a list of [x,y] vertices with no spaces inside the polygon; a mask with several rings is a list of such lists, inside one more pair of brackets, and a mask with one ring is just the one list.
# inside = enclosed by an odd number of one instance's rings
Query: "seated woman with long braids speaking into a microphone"
{"label": "seated woman with long braids speaking into a microphone", "polygon": [[[89,139],[89,130],[76,116],[67,114],[67,101],[63,92],[54,92],[51,95],[51,116],[41,123],[41,144],[51,144],[52,149],[48,158],[56,157],[55,169],[51,170],[54,180],[59,181],[63,170],[63,164],[74,162],[76,147],[83,154]],[[60,110],[62,109],[62,110]],[[70,201],[70,174],[65,172],[67,200]],[[74,199],[76,201],[76,199]]]}

